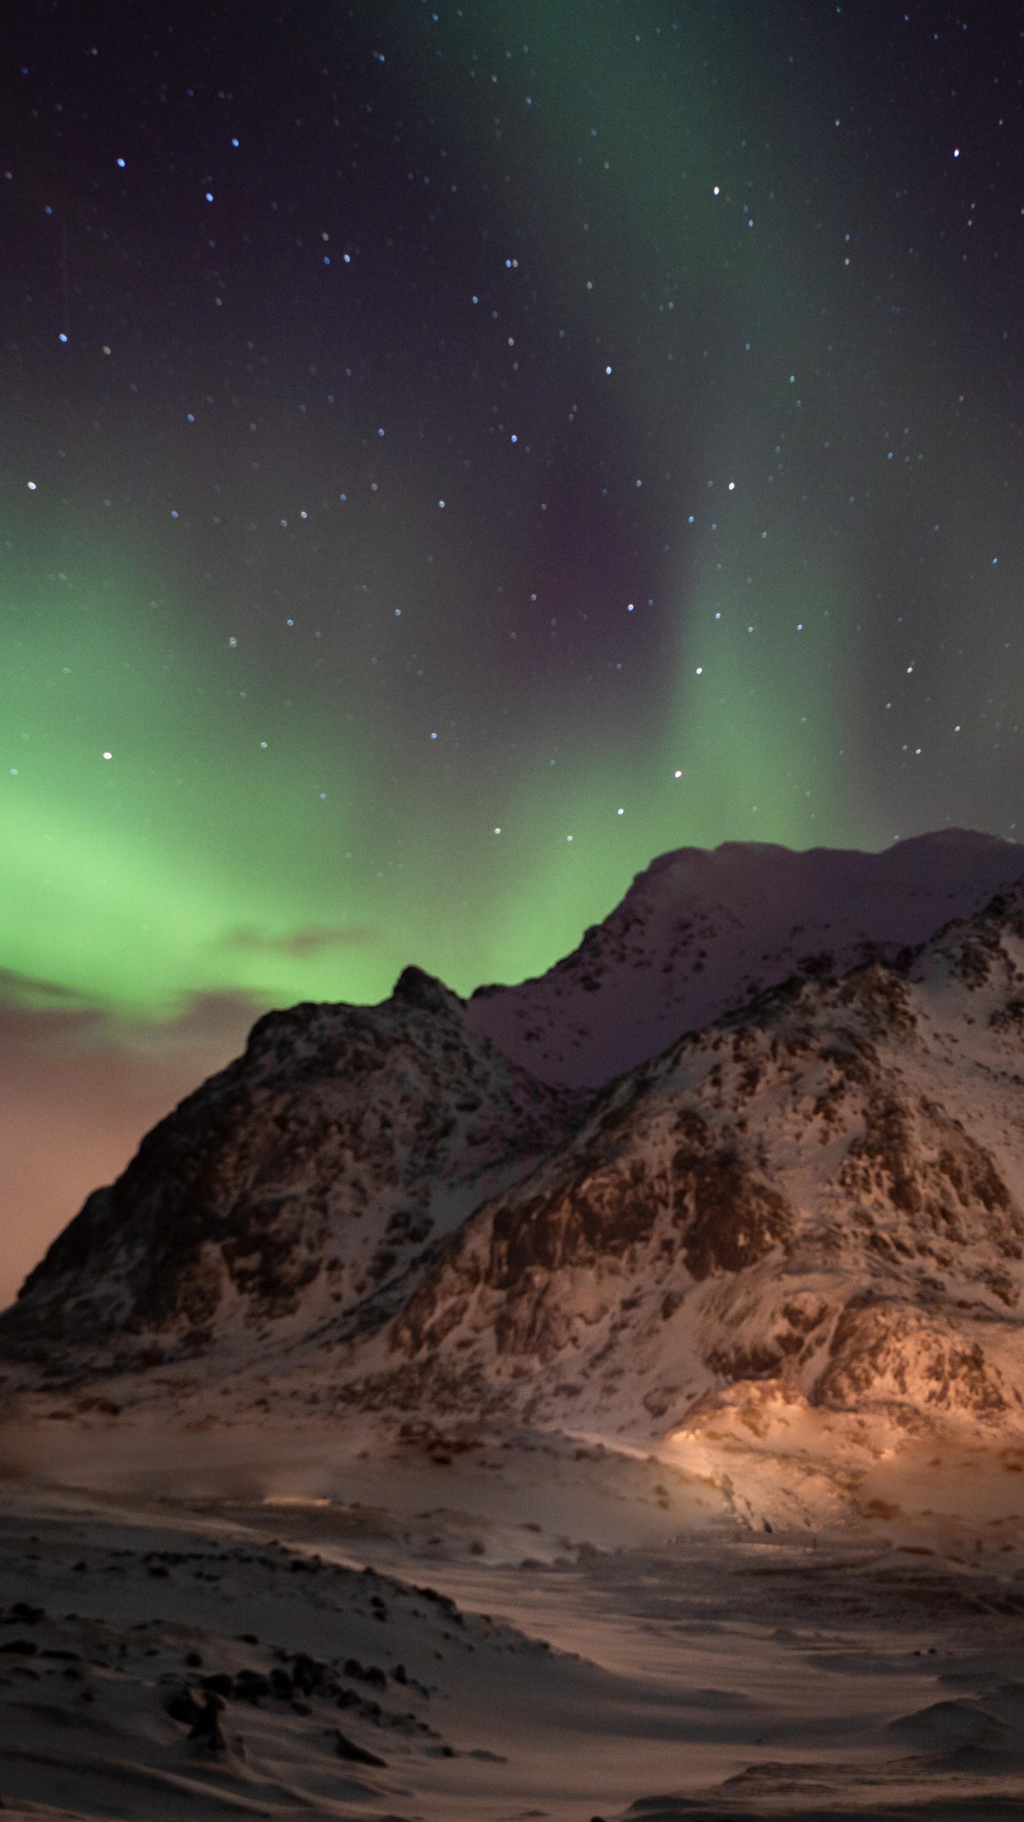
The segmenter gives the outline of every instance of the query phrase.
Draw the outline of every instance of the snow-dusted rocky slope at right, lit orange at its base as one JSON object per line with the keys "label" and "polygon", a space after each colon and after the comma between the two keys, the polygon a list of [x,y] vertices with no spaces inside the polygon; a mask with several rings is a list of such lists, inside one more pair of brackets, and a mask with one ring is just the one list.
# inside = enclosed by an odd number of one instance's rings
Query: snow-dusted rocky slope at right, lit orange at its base
{"label": "snow-dusted rocky slope at right, lit orange at its base", "polygon": [[1022,907],[614,1084],[452,1237],[357,1396],[638,1436],[778,1381],[1024,1423]]}

